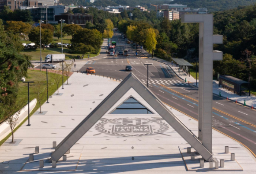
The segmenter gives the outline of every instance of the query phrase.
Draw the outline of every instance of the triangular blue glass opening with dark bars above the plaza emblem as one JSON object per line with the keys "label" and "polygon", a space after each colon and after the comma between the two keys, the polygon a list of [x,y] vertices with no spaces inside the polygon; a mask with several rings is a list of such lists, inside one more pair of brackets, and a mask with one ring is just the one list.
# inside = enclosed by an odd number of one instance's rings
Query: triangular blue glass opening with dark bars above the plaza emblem
{"label": "triangular blue glass opening with dark bars above the plaza emblem", "polygon": [[153,114],[135,98],[130,97],[110,114]]}

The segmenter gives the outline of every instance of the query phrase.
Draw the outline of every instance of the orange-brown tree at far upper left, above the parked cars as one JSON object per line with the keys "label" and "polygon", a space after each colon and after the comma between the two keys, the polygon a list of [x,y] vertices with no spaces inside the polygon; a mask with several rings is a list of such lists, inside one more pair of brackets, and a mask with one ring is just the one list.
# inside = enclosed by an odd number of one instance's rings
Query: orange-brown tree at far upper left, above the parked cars
{"label": "orange-brown tree at far upper left, above the parked cars", "polygon": [[31,25],[22,21],[7,21],[5,29],[12,33],[28,34],[31,30]]}

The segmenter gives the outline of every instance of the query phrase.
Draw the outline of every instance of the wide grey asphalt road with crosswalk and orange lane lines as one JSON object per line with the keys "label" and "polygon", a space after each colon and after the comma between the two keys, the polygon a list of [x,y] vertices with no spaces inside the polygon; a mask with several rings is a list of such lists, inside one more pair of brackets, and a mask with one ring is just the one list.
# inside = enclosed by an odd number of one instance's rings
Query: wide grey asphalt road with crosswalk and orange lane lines
{"label": "wide grey asphalt road with crosswalk and orange lane lines", "polygon": [[[90,66],[95,68],[97,74],[118,80],[124,79],[130,73],[125,71],[125,66],[132,65],[132,72],[143,83],[147,84],[147,66],[144,64],[153,63],[149,67],[149,88],[151,91],[170,107],[193,119],[198,119],[198,88],[184,83],[168,65],[146,58],[139,53],[135,57],[135,50],[122,39],[120,33],[115,32],[112,40],[117,42],[117,51],[124,50],[125,47],[128,48],[128,57],[110,56],[101,60],[93,60],[87,62],[80,71],[85,71]],[[215,130],[239,141],[256,157],[255,110],[214,95],[212,117],[212,127]]]}

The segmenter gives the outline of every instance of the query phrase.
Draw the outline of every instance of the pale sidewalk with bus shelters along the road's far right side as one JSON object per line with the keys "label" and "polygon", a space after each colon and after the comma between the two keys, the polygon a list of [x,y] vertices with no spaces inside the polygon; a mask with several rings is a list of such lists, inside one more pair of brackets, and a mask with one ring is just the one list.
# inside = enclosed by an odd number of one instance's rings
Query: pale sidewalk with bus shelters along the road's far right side
{"label": "pale sidewalk with bus shelters along the road's far right side", "polygon": [[[139,51],[139,50],[138,50]],[[179,73],[178,72],[178,69],[179,67],[177,67],[175,64],[173,64],[172,66],[172,63],[169,62],[169,61],[166,61],[164,59],[161,59],[161,58],[157,58],[157,57],[154,57],[152,58],[152,55],[149,54],[147,51],[139,51],[140,53],[144,54],[145,56],[147,56],[148,58],[151,58],[152,60],[155,60],[155,61],[158,61],[158,62],[162,62],[166,65],[169,65],[169,67],[173,70],[173,72],[176,73],[176,75],[181,78],[182,80],[185,81],[185,79],[187,79],[187,83],[189,82],[190,84],[192,84],[193,86],[195,87],[198,87],[199,85],[199,80],[197,79],[197,86],[196,86],[196,79],[192,76],[188,76],[184,71],[181,70],[181,72]],[[244,104],[244,101],[246,101],[246,105],[248,106],[252,106],[253,107],[256,107],[256,96],[254,95],[251,95],[251,96],[247,96],[247,95],[242,95],[242,96],[239,96],[237,94],[234,94],[233,92],[231,91],[228,91],[226,89],[223,89],[221,86],[218,87],[218,81],[216,80],[213,80],[213,94],[216,94],[216,95],[219,95],[219,92],[221,92],[221,96],[226,98],[228,97],[230,100],[233,100],[233,101],[236,101],[241,103],[241,104]]]}

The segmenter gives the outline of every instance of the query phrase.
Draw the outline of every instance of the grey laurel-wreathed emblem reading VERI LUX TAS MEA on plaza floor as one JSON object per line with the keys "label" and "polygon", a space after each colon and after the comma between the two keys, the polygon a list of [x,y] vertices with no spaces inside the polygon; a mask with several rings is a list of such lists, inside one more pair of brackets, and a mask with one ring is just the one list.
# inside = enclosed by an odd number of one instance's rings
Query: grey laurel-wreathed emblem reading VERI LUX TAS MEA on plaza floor
{"label": "grey laurel-wreathed emblem reading VERI LUX TAS MEA on plaza floor", "polygon": [[102,134],[114,136],[150,136],[161,134],[169,129],[162,118],[101,118],[95,129]]}

